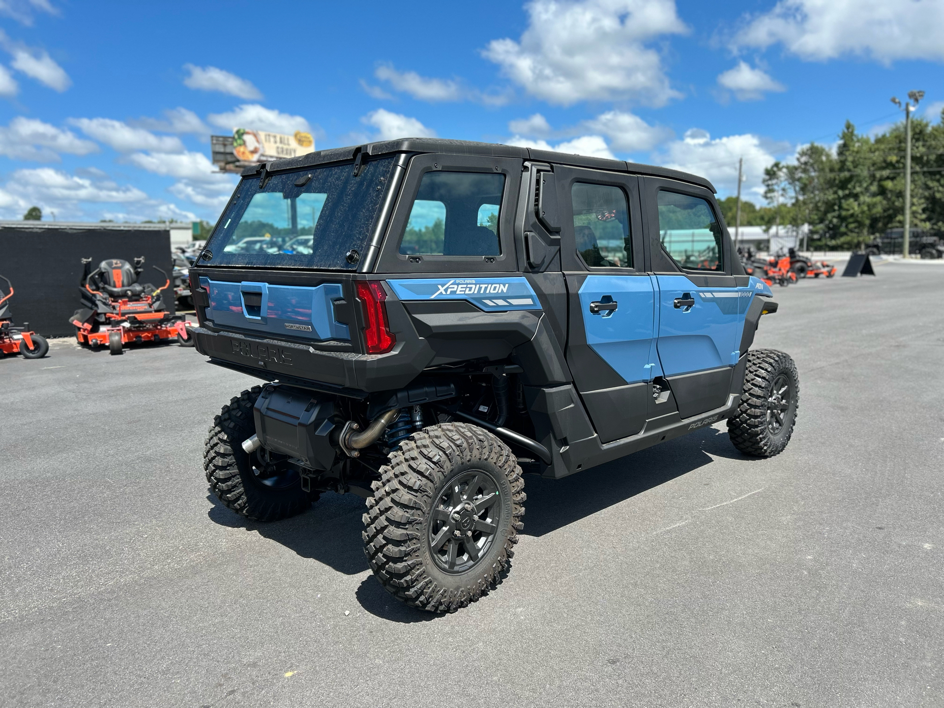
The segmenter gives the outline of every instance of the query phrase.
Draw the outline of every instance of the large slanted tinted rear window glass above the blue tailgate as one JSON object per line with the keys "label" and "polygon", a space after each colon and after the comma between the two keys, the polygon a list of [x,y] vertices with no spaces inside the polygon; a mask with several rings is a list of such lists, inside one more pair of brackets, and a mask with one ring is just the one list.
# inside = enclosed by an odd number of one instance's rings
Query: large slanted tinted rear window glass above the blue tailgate
{"label": "large slanted tinted rear window glass above the blue tailgate", "polygon": [[393,158],[244,179],[220,217],[201,265],[356,270],[386,191]]}

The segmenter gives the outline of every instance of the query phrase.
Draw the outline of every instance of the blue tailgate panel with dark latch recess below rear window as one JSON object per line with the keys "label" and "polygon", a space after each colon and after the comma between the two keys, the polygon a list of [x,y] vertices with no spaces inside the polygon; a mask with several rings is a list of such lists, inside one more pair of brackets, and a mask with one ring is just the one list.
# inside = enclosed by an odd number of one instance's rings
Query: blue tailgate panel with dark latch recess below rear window
{"label": "blue tailgate panel with dark latch recess below rear window", "polygon": [[[341,283],[310,288],[204,277],[200,287],[210,293],[204,317],[216,327],[251,329],[273,336],[290,334],[312,341],[350,340],[347,325],[334,319],[334,300],[344,299]],[[246,304],[245,295],[250,294],[261,295],[259,306]]]}

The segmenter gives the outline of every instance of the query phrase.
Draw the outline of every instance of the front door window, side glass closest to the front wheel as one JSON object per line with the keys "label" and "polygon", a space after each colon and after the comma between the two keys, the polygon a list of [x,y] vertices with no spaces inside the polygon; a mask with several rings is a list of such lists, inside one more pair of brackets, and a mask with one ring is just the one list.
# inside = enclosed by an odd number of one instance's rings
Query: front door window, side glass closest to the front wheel
{"label": "front door window, side glass closest to the front wheel", "polygon": [[659,239],[666,253],[688,270],[724,270],[723,231],[707,199],[659,192]]}

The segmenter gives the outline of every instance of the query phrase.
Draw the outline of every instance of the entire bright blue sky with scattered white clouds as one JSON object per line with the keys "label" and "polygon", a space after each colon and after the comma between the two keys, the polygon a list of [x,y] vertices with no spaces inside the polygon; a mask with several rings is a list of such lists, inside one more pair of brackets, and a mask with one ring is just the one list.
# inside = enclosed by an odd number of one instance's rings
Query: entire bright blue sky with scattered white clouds
{"label": "entire bright blue sky with scattered white clouds", "polygon": [[0,0],[0,218],[214,221],[209,135],[309,128],[665,164],[748,198],[843,122],[939,119],[944,0]]}

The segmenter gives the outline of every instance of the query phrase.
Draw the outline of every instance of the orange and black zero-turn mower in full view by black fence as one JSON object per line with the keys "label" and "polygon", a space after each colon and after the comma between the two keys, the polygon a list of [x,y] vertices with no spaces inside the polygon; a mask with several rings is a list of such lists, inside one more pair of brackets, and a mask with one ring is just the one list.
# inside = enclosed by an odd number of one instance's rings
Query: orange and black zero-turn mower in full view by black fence
{"label": "orange and black zero-turn mower in full view by black fence", "polygon": [[152,265],[164,277],[163,286],[155,288],[138,282],[143,262],[143,257],[136,258],[133,266],[121,259],[109,259],[90,272],[92,259],[82,259],[82,307],[69,320],[76,326],[80,345],[108,345],[112,354],[123,354],[125,345],[132,342],[177,339],[180,346],[194,346],[191,324],[182,315],[164,310],[161,294],[170,286],[170,278]]}

